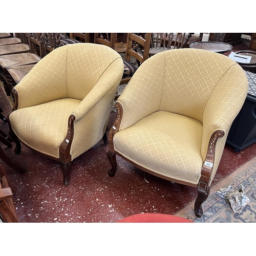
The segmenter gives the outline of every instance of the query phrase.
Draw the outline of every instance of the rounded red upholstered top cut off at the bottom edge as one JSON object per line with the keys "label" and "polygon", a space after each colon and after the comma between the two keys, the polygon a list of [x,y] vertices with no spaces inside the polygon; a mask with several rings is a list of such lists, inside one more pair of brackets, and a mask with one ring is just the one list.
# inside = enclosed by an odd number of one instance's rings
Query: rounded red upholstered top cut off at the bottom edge
{"label": "rounded red upholstered top cut off at the bottom edge", "polygon": [[118,223],[125,223],[125,222],[156,222],[156,223],[160,223],[160,222],[193,222],[190,221],[188,219],[182,218],[182,217],[178,217],[178,216],[174,216],[174,215],[168,215],[168,214],[136,214],[136,215],[132,215],[129,217],[126,217],[124,219],[121,219],[119,221],[117,221]]}

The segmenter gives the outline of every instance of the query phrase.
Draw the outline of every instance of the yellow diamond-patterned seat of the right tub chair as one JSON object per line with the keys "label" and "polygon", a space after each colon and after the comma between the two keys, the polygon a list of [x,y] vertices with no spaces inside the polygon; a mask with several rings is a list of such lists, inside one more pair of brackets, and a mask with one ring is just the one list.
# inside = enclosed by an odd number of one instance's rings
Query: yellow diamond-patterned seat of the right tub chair
{"label": "yellow diamond-patterned seat of the right tub chair", "polygon": [[203,163],[202,132],[195,119],[158,111],[117,132],[113,141],[116,152],[139,166],[196,185]]}

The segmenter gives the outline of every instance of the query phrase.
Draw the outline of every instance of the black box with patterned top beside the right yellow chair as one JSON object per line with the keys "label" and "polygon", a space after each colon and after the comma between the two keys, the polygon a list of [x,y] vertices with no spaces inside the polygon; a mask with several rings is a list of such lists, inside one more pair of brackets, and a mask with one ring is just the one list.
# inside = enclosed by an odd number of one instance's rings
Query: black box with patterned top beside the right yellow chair
{"label": "black box with patterned top beside the right yellow chair", "polygon": [[256,142],[256,74],[248,71],[245,73],[249,83],[248,94],[226,140],[236,152]]}

